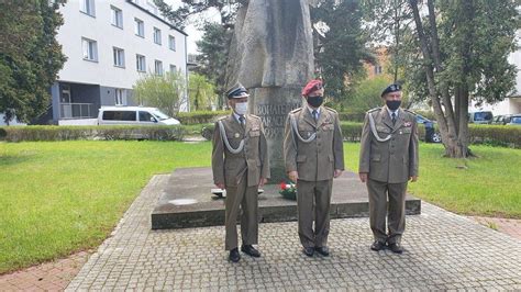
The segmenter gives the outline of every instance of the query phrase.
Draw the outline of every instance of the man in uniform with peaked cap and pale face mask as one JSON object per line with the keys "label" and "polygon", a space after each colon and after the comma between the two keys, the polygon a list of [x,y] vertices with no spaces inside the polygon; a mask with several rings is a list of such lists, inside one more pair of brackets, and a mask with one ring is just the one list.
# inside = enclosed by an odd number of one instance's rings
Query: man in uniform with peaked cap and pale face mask
{"label": "man in uniform with peaked cap and pale face mask", "polygon": [[237,83],[226,92],[233,112],[215,123],[213,133],[213,182],[226,190],[225,250],[230,260],[241,258],[237,248],[237,216],[241,215],[241,250],[260,257],[253,247],[258,242],[258,187],[269,178],[267,143],[260,119],[247,114],[246,89]]}

